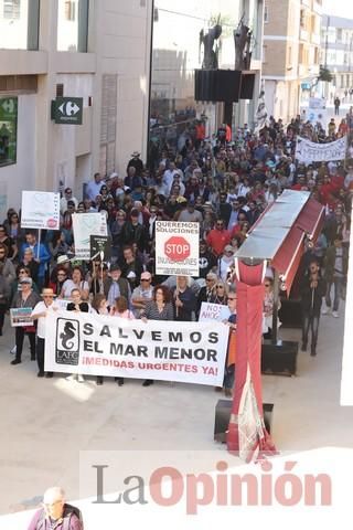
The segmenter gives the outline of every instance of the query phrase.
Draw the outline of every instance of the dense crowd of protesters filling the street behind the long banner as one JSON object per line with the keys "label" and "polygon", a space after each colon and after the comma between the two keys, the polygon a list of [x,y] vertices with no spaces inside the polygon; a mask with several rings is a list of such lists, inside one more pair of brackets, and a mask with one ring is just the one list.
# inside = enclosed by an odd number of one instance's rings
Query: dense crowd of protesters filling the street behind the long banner
{"label": "dense crowd of protesters filling the street behind the long banner", "polygon": [[[9,307],[31,307],[38,321],[38,327],[15,329],[12,364],[21,362],[23,339],[28,335],[31,359],[38,359],[38,374],[44,375],[44,320],[46,311],[55,309],[55,297],[69,300],[72,310],[167,320],[197,319],[202,301],[229,304],[233,319],[228,325],[235,328],[234,254],[267,204],[284,189],[308,190],[327,212],[322,234],[303,258],[308,274],[307,284],[302,285],[302,303],[308,318],[302,349],[307,348],[311,327],[311,351],[315,354],[319,316],[320,311],[330,311],[331,286],[334,317],[339,316],[340,299],[344,296],[353,144],[345,161],[306,167],[296,163],[296,138],[300,135],[314,141],[332,141],[349,132],[346,127],[351,127],[352,119],[350,113],[339,128],[334,124],[333,129],[330,123],[324,131],[300,116],[286,126],[281,119],[271,118],[258,135],[245,126],[234,131],[231,141],[226,127],[220,127],[208,140],[200,138],[200,134],[193,138],[191,132],[180,151],[161,146],[150,167],[133,152],[126,174],[114,172],[103,179],[95,173],[83,200],[74,197],[72,188],[66,188],[61,199],[61,230],[43,231],[41,241],[36,232],[21,229],[20,212],[10,209],[0,225],[0,335]],[[72,215],[101,211],[106,213],[111,237],[110,263],[78,261]],[[200,224],[199,278],[156,275],[157,220]],[[319,267],[315,271],[313,262]],[[324,272],[322,282],[318,280],[319,269]],[[267,282],[270,286],[270,274]],[[310,289],[320,292],[314,305],[310,301]],[[269,321],[268,299],[264,301],[264,314]],[[98,378],[97,383],[101,382]],[[124,380],[120,378],[118,382],[122,384]]]}

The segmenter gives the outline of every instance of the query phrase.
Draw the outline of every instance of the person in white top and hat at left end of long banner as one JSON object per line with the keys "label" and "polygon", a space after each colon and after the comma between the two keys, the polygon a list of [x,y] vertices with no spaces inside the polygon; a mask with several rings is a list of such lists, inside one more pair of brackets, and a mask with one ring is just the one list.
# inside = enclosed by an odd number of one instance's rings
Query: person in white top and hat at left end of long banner
{"label": "person in white top and hat at left end of long banner", "polygon": [[[44,352],[45,352],[45,328],[46,317],[54,311],[57,311],[58,306],[54,300],[55,294],[51,287],[44,287],[41,294],[42,300],[39,301],[33,311],[33,320],[38,320],[36,327],[36,362],[38,362],[38,377],[44,377]],[[46,372],[46,378],[52,378],[53,372]]]}

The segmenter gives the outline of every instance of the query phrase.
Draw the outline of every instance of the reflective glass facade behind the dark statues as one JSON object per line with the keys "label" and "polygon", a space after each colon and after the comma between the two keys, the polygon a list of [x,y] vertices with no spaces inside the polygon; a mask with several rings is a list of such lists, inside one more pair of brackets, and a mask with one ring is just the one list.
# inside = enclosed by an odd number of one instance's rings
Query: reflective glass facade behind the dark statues
{"label": "reflective glass facade behind the dark statues", "polygon": [[[243,9],[243,0],[154,1],[150,152],[165,144],[173,150],[180,149],[190,136],[195,118],[206,116],[208,131],[214,130],[211,124],[215,123],[216,106],[194,100],[194,70],[201,67],[203,60],[200,32],[206,33],[220,21],[218,67],[233,70],[233,31],[238,25]],[[247,9],[252,15],[245,15],[244,22],[256,34],[257,1],[249,0]]]}

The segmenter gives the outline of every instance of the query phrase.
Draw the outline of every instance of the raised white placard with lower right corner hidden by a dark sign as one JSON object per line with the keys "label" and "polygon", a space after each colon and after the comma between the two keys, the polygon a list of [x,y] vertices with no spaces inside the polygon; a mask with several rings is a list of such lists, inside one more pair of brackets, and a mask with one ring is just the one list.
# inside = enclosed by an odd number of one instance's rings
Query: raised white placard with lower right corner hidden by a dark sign
{"label": "raised white placard with lower right corner hidden by a dark sign", "polygon": [[90,257],[90,235],[107,235],[107,216],[105,212],[74,213],[73,230],[75,256],[79,259]]}

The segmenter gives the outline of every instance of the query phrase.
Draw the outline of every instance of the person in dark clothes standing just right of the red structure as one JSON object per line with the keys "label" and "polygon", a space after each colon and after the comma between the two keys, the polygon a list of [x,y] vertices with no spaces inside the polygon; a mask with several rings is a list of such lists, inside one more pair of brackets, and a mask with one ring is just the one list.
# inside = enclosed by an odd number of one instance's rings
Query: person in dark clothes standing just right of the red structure
{"label": "person in dark clothes standing just right of the red structure", "polygon": [[317,354],[319,321],[322,297],[325,294],[325,282],[320,276],[320,267],[317,259],[311,259],[308,273],[304,275],[301,286],[302,310],[302,351],[307,351],[309,329],[311,328],[311,356]]}

